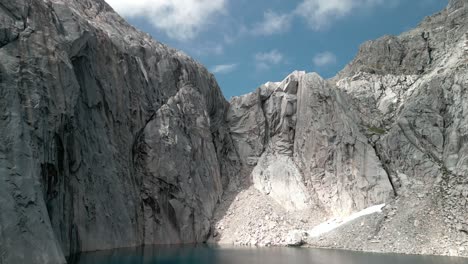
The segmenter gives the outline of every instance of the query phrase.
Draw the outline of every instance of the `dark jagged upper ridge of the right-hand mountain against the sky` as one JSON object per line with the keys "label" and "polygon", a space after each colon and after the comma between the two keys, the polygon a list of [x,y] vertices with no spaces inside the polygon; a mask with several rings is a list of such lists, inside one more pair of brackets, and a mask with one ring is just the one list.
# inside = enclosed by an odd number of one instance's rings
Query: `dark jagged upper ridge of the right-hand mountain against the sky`
{"label": "dark jagged upper ridge of the right-hand mountain against the sky", "polygon": [[[468,30],[467,1],[450,1],[447,9],[426,17],[416,28],[399,36],[383,36],[365,42],[356,57],[335,77],[359,72],[424,74],[437,68],[460,43]],[[456,12],[455,12],[456,11]]]}

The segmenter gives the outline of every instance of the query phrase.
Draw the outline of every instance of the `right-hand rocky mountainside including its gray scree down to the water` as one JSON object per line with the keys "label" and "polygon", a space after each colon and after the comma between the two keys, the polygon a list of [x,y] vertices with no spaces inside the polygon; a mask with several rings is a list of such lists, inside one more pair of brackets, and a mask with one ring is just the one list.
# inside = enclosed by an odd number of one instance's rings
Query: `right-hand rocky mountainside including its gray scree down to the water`
{"label": "right-hand rocky mountainside including its gray scree down to the water", "polygon": [[[450,1],[445,10],[425,18],[417,28],[364,44],[353,62],[333,78],[358,109],[360,126],[389,174],[397,199],[387,207],[384,219],[373,219],[362,228],[345,227],[328,242],[324,239],[314,245],[467,256],[459,246],[467,242],[462,230],[468,221],[463,195],[467,186],[467,3]],[[390,43],[394,42],[403,48],[393,49]],[[395,57],[402,58],[401,63],[392,63]],[[370,231],[372,242],[359,238],[369,229],[375,230]],[[337,237],[341,242],[336,242]]]}

